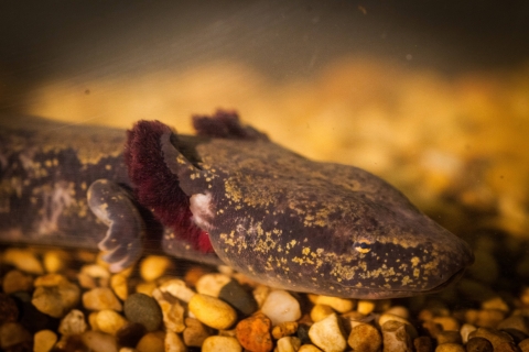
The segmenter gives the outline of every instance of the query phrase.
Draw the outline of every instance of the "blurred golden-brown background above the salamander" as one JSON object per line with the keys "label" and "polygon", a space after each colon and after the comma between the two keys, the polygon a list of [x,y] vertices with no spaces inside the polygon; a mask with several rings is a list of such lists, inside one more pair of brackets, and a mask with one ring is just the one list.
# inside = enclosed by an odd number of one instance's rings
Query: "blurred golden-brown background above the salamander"
{"label": "blurred golden-brown background above the salamander", "polygon": [[461,235],[529,238],[529,2],[12,1],[0,33],[2,111],[192,132],[236,109]]}

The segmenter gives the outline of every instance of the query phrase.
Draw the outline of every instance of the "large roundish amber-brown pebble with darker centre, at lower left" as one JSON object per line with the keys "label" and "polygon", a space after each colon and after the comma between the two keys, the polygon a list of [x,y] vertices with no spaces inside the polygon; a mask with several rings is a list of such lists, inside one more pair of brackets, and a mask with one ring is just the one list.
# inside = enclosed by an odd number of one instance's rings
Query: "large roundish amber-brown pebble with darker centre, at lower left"
{"label": "large roundish amber-brown pebble with darker centre, at lower left", "polygon": [[79,302],[80,288],[57,274],[40,276],[34,282],[32,305],[41,312],[62,318]]}

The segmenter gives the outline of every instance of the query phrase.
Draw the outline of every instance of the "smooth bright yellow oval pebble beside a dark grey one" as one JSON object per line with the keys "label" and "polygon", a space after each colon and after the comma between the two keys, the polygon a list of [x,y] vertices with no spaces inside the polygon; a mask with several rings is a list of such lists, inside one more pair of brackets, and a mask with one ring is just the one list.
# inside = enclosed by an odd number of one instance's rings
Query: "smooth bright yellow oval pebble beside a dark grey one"
{"label": "smooth bright yellow oval pebble beside a dark grey one", "polygon": [[203,323],[225,330],[237,321],[237,312],[227,302],[207,295],[196,294],[188,304],[190,311]]}

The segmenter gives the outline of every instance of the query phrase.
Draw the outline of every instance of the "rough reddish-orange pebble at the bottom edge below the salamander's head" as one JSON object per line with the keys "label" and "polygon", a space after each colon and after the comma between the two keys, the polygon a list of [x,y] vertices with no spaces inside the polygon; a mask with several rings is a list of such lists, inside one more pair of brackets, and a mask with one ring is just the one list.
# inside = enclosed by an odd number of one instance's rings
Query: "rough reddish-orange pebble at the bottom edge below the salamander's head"
{"label": "rough reddish-orange pebble at the bottom edge below the salamander's head", "polygon": [[235,329],[240,344],[253,352],[268,352],[273,349],[270,334],[271,320],[261,312],[239,321]]}

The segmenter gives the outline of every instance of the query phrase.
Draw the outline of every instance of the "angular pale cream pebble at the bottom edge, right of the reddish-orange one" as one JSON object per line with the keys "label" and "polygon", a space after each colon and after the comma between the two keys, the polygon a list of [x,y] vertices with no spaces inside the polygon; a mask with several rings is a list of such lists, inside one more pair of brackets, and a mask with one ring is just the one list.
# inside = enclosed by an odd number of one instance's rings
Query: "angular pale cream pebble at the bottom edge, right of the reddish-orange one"
{"label": "angular pale cream pebble at the bottom edge, right of the reddish-orange one", "polygon": [[309,330],[309,337],[312,343],[326,352],[341,352],[347,346],[336,314],[314,322]]}

